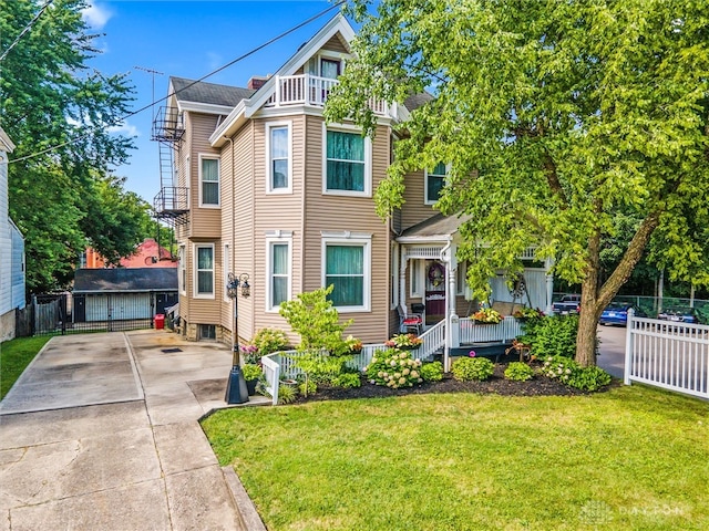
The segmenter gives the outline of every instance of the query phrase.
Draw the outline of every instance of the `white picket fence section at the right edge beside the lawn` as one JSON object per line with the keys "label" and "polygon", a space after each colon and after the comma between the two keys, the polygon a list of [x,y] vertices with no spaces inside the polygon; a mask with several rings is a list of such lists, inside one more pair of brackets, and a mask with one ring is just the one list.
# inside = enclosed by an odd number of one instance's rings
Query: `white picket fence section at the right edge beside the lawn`
{"label": "white picket fence section at the right edge beside the lawn", "polygon": [[709,398],[709,326],[628,312],[624,381]]}

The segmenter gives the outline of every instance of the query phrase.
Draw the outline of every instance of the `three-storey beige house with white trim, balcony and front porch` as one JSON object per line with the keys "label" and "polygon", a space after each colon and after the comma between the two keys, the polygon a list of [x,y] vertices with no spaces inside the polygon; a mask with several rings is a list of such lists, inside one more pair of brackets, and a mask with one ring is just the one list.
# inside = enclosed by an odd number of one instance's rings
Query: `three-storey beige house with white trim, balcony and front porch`
{"label": "three-storey beige house with white trim, balcony and front porch", "polygon": [[[374,211],[392,124],[431,96],[403,106],[372,102],[371,139],[351,123],[325,123],[353,37],[338,15],[274,75],[245,88],[171,79],[154,126],[163,168],[154,209],[176,229],[179,329],[188,339],[230,340],[228,273],[246,273],[250,284],[250,296],[238,298],[242,341],[263,327],[288,331],[279,304],[329,284],[342,319],[353,320],[348,333],[366,343],[398,332],[412,304],[422,305],[427,326],[476,308],[455,260],[461,220],[432,208],[444,164],[407,176],[405,205],[389,222]],[[544,271],[541,280],[524,302],[546,309]],[[497,299],[515,300],[504,282],[494,289]]]}

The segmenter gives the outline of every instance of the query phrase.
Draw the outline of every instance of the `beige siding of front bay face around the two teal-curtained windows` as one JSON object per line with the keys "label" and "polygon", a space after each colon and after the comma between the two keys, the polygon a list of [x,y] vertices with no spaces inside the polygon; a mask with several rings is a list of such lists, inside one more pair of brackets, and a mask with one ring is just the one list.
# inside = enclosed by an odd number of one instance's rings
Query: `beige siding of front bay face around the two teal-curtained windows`
{"label": "beige siding of front bay face around the two teal-curtained windows", "polygon": [[[343,197],[322,194],[322,119],[307,117],[306,162],[306,291],[322,284],[321,231],[352,231],[372,235],[371,311],[341,313],[353,319],[349,332],[366,342],[379,342],[389,335],[389,230],[377,217],[371,197]],[[378,131],[372,146],[372,189],[384,177],[389,165],[389,132]]]}

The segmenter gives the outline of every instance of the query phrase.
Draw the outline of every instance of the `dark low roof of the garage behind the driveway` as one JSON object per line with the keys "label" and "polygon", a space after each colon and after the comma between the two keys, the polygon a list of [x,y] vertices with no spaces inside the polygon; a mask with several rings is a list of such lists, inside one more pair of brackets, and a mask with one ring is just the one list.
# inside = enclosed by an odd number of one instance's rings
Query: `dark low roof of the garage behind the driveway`
{"label": "dark low roof of the garage behind the driveway", "polygon": [[177,269],[79,269],[74,275],[74,293],[146,291],[177,291]]}

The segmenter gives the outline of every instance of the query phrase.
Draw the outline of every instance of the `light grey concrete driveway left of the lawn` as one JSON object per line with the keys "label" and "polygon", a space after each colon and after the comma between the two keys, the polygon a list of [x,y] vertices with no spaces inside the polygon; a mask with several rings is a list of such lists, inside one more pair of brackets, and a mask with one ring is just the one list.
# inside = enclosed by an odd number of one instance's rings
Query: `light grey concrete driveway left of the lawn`
{"label": "light grey concrete driveway left of the lawn", "polygon": [[244,529],[197,423],[230,365],[167,331],[53,337],[0,403],[0,531]]}

